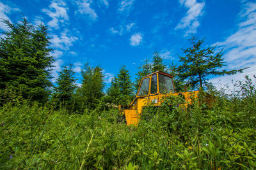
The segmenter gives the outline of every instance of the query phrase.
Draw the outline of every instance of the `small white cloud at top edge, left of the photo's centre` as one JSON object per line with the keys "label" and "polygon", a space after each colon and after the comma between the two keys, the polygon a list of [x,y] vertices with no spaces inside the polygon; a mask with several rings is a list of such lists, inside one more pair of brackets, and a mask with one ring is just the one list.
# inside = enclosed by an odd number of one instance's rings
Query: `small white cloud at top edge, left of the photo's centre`
{"label": "small white cloud at top edge, left of the photo's centre", "polygon": [[[106,3],[108,3],[108,1],[106,1]],[[77,1],[77,4],[79,6],[79,13],[88,15],[92,20],[97,20],[97,13],[90,7],[92,0]]]}

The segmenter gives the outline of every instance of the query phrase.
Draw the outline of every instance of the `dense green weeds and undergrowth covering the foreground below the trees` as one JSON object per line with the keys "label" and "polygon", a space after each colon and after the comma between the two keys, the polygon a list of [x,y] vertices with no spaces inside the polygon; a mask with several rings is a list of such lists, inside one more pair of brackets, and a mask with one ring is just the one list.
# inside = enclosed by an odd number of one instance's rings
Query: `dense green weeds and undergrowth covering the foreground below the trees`
{"label": "dense green weeds and undergrowth covering the foreground below the trees", "polygon": [[256,169],[255,87],[247,79],[236,88],[215,91],[212,108],[183,110],[180,98],[148,106],[138,127],[115,109],[70,114],[6,104],[0,169]]}

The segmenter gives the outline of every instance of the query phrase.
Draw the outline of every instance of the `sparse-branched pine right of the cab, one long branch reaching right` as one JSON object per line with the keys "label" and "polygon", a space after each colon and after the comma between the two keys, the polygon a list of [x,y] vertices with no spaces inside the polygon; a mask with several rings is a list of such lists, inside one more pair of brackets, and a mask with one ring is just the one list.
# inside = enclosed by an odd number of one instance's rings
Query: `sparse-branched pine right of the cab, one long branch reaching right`
{"label": "sparse-branched pine right of the cab, one long branch reaching right", "polygon": [[243,69],[226,71],[225,69],[218,71],[218,68],[225,66],[225,61],[222,58],[222,50],[218,53],[214,52],[216,46],[210,46],[208,48],[202,48],[204,39],[196,41],[197,38],[192,36],[189,39],[192,47],[187,48],[184,51],[185,56],[180,57],[182,64],[179,66],[179,76],[185,81],[188,80],[188,84],[193,89],[199,84],[200,89],[203,89],[203,85],[206,83],[207,76],[211,75],[225,75],[236,74],[237,72],[243,72]]}

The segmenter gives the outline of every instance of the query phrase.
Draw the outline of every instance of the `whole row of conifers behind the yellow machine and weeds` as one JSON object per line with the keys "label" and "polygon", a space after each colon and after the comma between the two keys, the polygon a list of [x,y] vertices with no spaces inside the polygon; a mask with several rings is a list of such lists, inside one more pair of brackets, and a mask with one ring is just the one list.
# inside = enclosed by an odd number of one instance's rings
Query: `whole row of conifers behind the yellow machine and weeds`
{"label": "whole row of conifers behind the yellow machine and weeds", "polygon": [[[180,65],[166,66],[158,52],[152,59],[145,59],[138,67],[135,81],[132,82],[127,67],[122,66],[106,89],[104,73],[100,66],[90,66],[87,62],[81,71],[82,84],[78,87],[72,64],[66,64],[58,73],[56,85],[52,84],[51,71],[54,57],[51,42],[45,25],[34,26],[26,18],[17,24],[3,21],[10,31],[1,36],[0,46],[0,105],[9,101],[29,99],[46,103],[55,108],[72,111],[105,108],[108,104],[129,104],[138,90],[143,76],[155,71],[164,71],[175,76],[175,87],[182,91],[185,86],[191,90],[204,89],[209,75],[235,74],[233,71],[217,71],[225,62],[222,51],[215,53],[215,47],[202,48],[204,39],[189,39],[191,47],[184,50]],[[238,70],[239,72],[243,69]]]}

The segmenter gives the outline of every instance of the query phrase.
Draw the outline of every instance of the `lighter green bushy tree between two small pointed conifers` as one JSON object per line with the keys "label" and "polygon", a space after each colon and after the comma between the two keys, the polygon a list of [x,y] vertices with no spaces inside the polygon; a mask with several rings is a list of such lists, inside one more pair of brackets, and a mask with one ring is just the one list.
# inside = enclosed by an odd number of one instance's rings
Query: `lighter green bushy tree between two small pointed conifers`
{"label": "lighter green bushy tree between two small pointed conifers", "polygon": [[81,110],[84,108],[95,109],[104,96],[104,74],[102,68],[89,66],[85,64],[82,70],[83,83],[77,88],[76,95],[74,95],[77,105]]}

